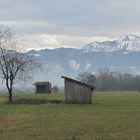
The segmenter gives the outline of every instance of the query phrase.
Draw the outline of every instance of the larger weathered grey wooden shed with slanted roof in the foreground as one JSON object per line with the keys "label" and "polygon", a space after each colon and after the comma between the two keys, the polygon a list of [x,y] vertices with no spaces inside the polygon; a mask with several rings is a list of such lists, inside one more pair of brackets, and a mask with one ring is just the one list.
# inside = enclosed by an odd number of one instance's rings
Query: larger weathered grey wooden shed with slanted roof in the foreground
{"label": "larger weathered grey wooden shed with slanted roof in the foreground", "polygon": [[68,77],[64,77],[65,82],[65,102],[77,104],[91,104],[92,92],[95,89],[93,85],[89,85]]}

